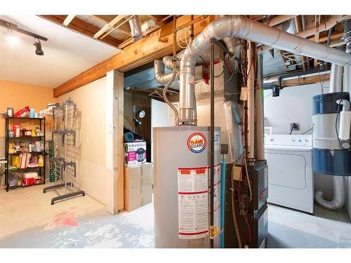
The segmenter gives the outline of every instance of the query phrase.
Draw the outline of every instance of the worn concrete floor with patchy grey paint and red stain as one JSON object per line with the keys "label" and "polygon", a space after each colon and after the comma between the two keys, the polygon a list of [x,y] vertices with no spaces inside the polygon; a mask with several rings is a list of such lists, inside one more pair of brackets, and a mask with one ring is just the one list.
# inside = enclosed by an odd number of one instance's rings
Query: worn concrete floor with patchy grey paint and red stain
{"label": "worn concrete floor with patchy grey paint and red stain", "polygon": [[[0,248],[153,248],[152,203],[110,215],[89,196],[51,205],[43,186],[0,191]],[[314,216],[269,205],[269,248],[351,248],[345,210]]]}

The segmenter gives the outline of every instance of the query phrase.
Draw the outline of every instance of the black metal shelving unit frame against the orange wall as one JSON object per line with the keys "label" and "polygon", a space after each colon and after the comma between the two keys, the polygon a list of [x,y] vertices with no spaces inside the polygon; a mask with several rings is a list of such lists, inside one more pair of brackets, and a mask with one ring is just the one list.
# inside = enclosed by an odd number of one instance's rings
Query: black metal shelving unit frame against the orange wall
{"label": "black metal shelving unit frame against the orange wall", "polygon": [[[9,129],[9,123],[10,120],[35,120],[35,121],[39,121],[39,128],[40,130],[42,130],[42,128],[44,129],[44,135],[42,136],[20,136],[20,137],[9,137],[8,136],[8,130]],[[44,118],[29,118],[29,117],[25,117],[25,118],[18,118],[18,117],[8,117],[5,116],[5,120],[6,120],[6,170],[5,170],[5,182],[6,182],[6,191],[8,191],[10,188],[9,186],[9,173],[12,171],[16,171],[16,170],[20,170],[20,171],[25,171],[25,170],[38,170],[39,171],[39,176],[41,177],[41,183],[40,184],[45,184],[45,158],[44,158],[44,166],[37,166],[37,167],[27,167],[27,168],[17,168],[14,170],[9,170],[10,168],[10,163],[11,163],[11,156],[14,155],[19,155],[22,154],[22,152],[16,152],[14,154],[9,154],[8,153],[8,147],[9,147],[9,143],[10,141],[13,141],[14,139],[19,139],[23,142],[23,140],[33,140],[34,138],[40,138],[40,139],[44,139],[44,151],[32,151],[32,152],[27,152],[28,154],[43,154],[44,156],[46,155],[46,151],[45,151],[45,117]],[[12,123],[12,122],[11,122]],[[39,169],[38,169],[39,168]],[[44,169],[41,169],[44,168]],[[32,185],[37,185],[37,184],[32,184]],[[32,186],[31,185],[31,186]],[[16,187],[17,188],[17,187]],[[15,188],[14,188],[15,189]]]}

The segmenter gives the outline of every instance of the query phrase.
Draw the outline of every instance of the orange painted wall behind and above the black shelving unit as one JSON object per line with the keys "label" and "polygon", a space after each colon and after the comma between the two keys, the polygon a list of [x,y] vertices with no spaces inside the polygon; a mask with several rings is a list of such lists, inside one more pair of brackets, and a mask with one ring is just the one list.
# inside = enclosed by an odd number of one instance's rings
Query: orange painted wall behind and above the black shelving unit
{"label": "orange painted wall behind and above the black shelving unit", "polygon": [[[25,106],[39,112],[40,109],[46,109],[51,102],[57,102],[51,88],[0,80],[0,112],[6,112],[7,107],[13,107],[13,112],[17,112]],[[51,128],[50,124],[51,120],[48,120],[48,129]],[[0,117],[0,137],[4,136],[5,120]]]}

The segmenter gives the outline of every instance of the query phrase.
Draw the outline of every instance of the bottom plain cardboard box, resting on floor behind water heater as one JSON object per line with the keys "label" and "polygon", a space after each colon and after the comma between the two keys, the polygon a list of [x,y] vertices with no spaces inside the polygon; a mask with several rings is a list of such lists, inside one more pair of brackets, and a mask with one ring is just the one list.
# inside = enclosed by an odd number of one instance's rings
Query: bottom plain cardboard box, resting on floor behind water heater
{"label": "bottom plain cardboard box, resting on floor behind water heater", "polygon": [[152,184],[134,189],[124,189],[124,210],[131,212],[152,202]]}

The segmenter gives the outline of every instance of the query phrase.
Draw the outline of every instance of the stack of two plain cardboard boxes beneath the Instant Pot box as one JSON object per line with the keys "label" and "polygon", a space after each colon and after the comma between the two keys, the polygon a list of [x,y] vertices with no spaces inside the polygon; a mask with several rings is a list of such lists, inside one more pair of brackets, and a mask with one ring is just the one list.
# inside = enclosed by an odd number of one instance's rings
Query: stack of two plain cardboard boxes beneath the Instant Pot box
{"label": "stack of two plain cardboard boxes beneath the Instant Pot box", "polygon": [[130,212],[152,202],[152,163],[124,167],[124,210]]}

